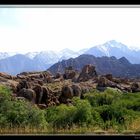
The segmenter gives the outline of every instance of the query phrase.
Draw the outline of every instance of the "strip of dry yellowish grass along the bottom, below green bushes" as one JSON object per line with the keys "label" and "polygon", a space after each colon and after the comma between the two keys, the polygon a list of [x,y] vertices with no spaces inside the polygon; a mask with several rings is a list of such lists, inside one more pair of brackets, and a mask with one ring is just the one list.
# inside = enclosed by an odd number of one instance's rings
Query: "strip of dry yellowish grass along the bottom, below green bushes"
{"label": "strip of dry yellowish grass along the bottom, below green bushes", "polygon": [[45,128],[45,129],[38,129],[38,128],[1,128],[0,134],[27,134],[27,135],[50,135],[50,134],[60,134],[60,135],[69,135],[69,134],[84,134],[84,135],[114,135],[114,134],[140,134],[140,119],[135,120],[127,130],[123,130],[119,132],[117,129],[110,128],[108,130],[103,130],[99,127],[80,127],[80,126],[73,126],[69,128]]}

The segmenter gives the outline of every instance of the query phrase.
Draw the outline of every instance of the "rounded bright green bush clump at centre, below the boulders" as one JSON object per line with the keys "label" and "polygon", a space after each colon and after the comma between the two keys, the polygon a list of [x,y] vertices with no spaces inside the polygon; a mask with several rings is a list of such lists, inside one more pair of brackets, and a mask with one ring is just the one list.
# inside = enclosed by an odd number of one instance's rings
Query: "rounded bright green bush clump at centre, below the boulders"
{"label": "rounded bright green bush clump at centre, below the boulders", "polygon": [[73,105],[61,104],[46,109],[46,120],[56,127],[71,127],[73,124],[82,125],[92,122],[92,108],[87,100],[73,98]]}

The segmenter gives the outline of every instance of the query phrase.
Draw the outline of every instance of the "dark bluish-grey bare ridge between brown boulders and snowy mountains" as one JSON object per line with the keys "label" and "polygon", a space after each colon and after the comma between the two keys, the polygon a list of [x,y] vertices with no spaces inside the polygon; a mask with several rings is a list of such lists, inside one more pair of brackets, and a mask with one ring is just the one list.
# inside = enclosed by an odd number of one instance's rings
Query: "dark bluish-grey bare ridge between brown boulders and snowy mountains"
{"label": "dark bluish-grey bare ridge between brown boulders and snowy mountains", "polygon": [[140,64],[131,64],[125,57],[117,59],[114,56],[95,57],[88,54],[63,60],[52,65],[48,70],[53,74],[57,72],[64,73],[66,67],[72,66],[75,70],[80,71],[86,64],[93,64],[96,66],[98,74],[110,73],[116,77],[140,77]]}

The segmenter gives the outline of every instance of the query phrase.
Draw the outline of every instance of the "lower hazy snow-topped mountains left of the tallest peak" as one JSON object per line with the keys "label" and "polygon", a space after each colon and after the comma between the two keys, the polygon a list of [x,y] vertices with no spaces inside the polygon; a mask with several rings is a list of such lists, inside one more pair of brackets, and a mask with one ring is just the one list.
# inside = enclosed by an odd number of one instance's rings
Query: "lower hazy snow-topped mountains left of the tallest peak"
{"label": "lower hazy snow-topped mountains left of the tallest peak", "polygon": [[58,53],[54,51],[20,53],[0,53],[0,72],[16,75],[23,71],[42,71],[54,63],[70,57],[77,57],[80,53],[64,49]]}

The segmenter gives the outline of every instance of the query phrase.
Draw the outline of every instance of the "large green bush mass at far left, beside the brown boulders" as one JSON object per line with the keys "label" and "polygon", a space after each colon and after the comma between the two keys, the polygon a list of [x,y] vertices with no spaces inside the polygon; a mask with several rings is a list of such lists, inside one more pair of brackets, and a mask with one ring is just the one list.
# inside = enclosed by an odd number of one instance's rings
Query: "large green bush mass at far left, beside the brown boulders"
{"label": "large green bush mass at far left, beside the brown boulders", "polygon": [[11,92],[6,87],[0,87],[0,123],[5,126],[45,126],[44,113],[28,101],[12,100]]}

